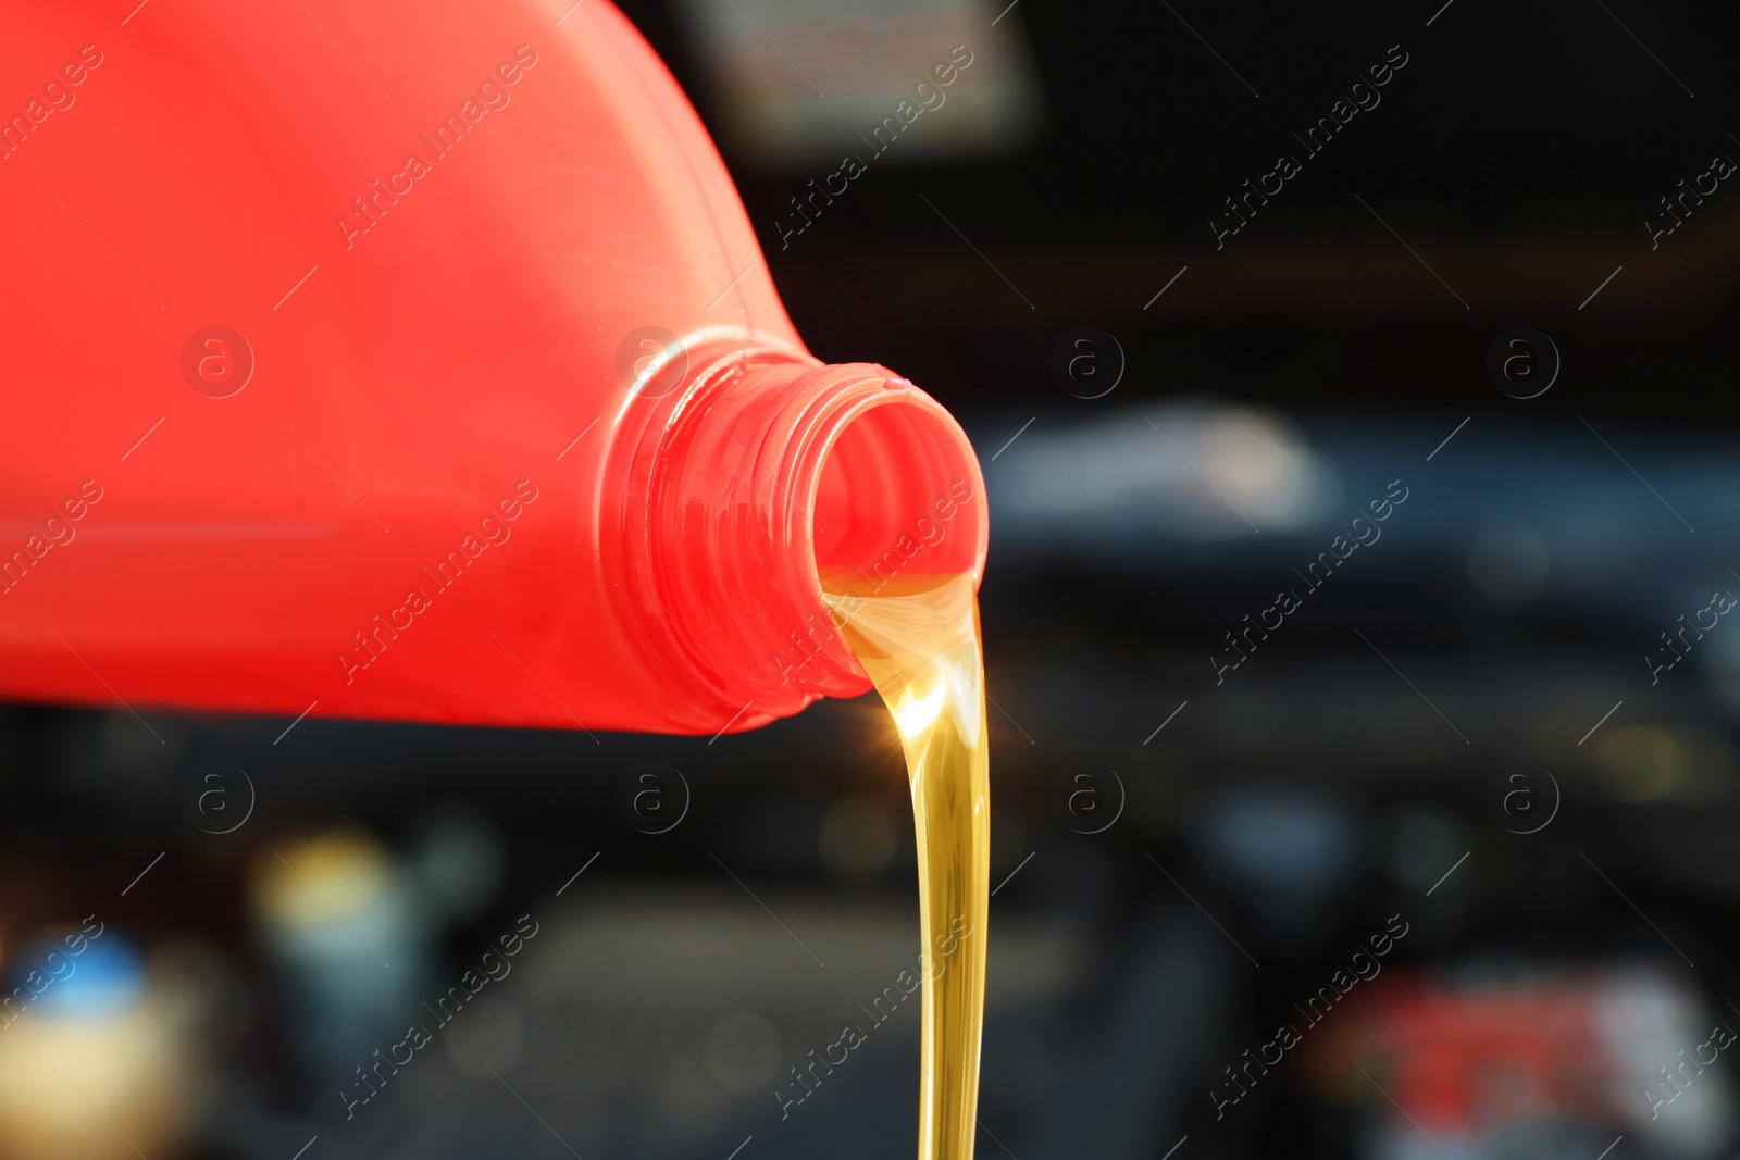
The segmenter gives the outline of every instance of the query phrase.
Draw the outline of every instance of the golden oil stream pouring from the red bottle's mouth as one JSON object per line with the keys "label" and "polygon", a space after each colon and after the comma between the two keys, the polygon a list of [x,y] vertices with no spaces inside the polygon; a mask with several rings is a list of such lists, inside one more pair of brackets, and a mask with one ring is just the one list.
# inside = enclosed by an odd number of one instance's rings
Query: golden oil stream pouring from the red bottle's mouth
{"label": "golden oil stream pouring from the red bottle's mouth", "polygon": [[973,576],[901,577],[873,597],[823,576],[823,595],[894,717],[912,783],[926,951],[919,1160],[971,1160],[990,904],[990,737]]}

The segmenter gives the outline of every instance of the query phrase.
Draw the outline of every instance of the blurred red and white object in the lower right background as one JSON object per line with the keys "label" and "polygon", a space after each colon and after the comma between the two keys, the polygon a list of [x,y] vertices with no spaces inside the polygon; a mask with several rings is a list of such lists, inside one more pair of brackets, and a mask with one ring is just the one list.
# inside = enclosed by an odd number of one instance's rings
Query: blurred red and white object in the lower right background
{"label": "blurred red and white object in the lower right background", "polygon": [[1331,1012],[1305,1052],[1312,1087],[1399,1113],[1408,1130],[1467,1139],[1580,1122],[1693,1157],[1733,1123],[1731,1094],[1707,1071],[1733,1042],[1723,1028],[1707,1042],[1696,993],[1656,969],[1402,970]]}

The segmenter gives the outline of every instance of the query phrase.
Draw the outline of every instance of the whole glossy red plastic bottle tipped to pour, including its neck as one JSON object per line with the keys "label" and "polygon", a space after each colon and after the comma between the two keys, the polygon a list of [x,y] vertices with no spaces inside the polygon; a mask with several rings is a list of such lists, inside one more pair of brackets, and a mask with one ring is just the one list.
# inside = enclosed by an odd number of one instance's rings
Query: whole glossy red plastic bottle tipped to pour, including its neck
{"label": "whole glossy red plastic bottle tipped to pour, including its neck", "polygon": [[870,687],[818,565],[983,567],[606,0],[127,7],[0,0],[0,696],[748,729]]}

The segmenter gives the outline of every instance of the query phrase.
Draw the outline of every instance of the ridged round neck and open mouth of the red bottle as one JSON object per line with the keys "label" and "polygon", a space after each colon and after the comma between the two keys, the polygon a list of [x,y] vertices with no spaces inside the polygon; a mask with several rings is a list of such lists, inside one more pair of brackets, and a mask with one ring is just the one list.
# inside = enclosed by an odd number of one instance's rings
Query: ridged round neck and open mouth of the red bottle
{"label": "ridged round neck and open mouth of the red bottle", "polygon": [[734,346],[689,365],[665,398],[630,398],[606,468],[619,551],[600,543],[600,562],[628,631],[673,697],[733,729],[868,692],[823,577],[865,597],[896,576],[976,583],[988,523],[971,443],[873,363]]}

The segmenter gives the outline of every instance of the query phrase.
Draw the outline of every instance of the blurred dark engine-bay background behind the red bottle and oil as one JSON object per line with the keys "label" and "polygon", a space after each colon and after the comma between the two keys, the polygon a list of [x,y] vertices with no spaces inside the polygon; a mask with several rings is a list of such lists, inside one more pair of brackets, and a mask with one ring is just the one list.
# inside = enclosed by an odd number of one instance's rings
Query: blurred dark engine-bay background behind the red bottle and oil
{"label": "blurred dark engine-bay background behind the red bottle and oil", "polygon": [[[623,7],[813,350],[985,463],[980,1155],[1735,1155],[1740,14]],[[915,953],[901,770],[873,697],[7,708],[0,1132],[103,1103],[10,1063],[77,1042],[212,1160],[905,1155],[915,1003],[788,1103]]]}

